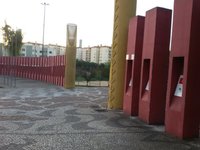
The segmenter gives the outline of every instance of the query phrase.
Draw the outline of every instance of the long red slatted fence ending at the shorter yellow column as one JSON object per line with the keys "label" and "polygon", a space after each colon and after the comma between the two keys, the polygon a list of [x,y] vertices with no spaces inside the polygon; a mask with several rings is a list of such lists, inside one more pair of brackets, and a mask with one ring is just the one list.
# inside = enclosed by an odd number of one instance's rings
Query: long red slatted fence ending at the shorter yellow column
{"label": "long red slatted fence ending at the shorter yellow column", "polygon": [[0,57],[0,75],[64,85],[65,56]]}

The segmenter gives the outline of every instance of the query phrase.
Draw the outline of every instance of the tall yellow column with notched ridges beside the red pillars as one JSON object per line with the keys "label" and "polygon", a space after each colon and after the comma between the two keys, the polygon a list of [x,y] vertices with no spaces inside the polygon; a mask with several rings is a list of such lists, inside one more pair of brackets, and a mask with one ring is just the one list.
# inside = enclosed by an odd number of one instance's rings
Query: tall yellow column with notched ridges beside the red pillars
{"label": "tall yellow column with notched ridges beside the red pillars", "polygon": [[122,109],[129,20],[137,0],[115,0],[108,108]]}

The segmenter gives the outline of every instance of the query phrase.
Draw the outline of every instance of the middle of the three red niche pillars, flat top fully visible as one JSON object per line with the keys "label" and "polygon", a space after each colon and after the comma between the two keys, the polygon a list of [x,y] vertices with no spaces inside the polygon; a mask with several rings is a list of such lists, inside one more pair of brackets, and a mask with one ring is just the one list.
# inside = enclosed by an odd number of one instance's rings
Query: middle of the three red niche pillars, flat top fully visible
{"label": "middle of the three red niche pillars, flat top fully visible", "polygon": [[167,90],[171,10],[154,8],[145,19],[139,118],[163,124]]}

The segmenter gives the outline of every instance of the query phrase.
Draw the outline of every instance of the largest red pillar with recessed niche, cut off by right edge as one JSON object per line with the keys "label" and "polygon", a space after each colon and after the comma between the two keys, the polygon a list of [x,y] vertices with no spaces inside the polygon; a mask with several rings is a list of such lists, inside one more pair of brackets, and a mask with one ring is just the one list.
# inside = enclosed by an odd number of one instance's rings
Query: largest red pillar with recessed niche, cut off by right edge
{"label": "largest red pillar with recessed niche, cut off by right edge", "polygon": [[199,136],[200,0],[175,0],[165,129],[179,138]]}

